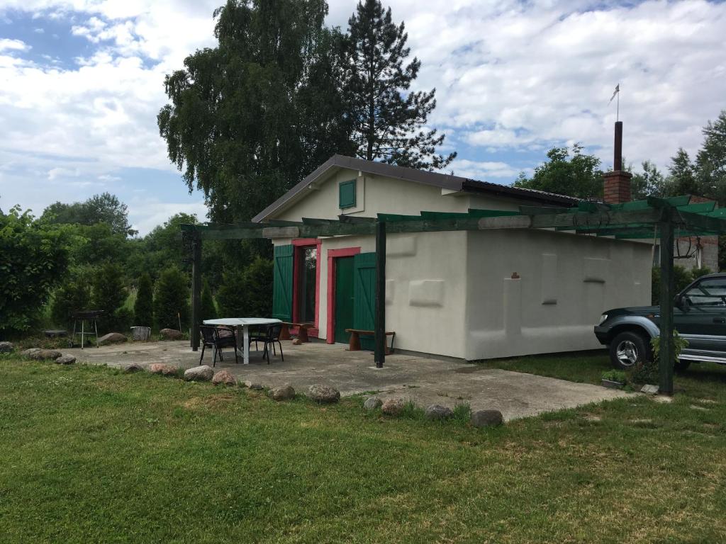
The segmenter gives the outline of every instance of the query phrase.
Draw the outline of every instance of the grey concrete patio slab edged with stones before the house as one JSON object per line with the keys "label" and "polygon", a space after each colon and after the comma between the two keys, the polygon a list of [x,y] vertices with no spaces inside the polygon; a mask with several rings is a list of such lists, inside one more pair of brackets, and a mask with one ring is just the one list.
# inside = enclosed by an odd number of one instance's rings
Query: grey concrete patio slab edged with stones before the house
{"label": "grey concrete patio slab edged with stones before the house", "polygon": [[[343,396],[376,393],[383,398],[409,399],[423,408],[431,404],[454,408],[468,403],[473,411],[499,410],[505,420],[628,395],[592,384],[413,355],[388,355],[385,368],[375,368],[370,352],[349,352],[345,348],[322,342],[299,346],[283,342],[285,362],[278,355],[269,365],[254,350],[249,365],[242,365],[241,357],[235,364],[234,353],[224,350],[224,362],[218,360],[216,369],[229,370],[240,382],[258,382],[264,387],[288,383],[302,393],[312,384],[326,384]],[[192,352],[189,342],[184,341],[134,342],[63,353],[74,355],[79,363],[118,367],[171,363],[186,369],[199,363],[201,352]],[[204,363],[212,363],[210,350],[205,353]]]}

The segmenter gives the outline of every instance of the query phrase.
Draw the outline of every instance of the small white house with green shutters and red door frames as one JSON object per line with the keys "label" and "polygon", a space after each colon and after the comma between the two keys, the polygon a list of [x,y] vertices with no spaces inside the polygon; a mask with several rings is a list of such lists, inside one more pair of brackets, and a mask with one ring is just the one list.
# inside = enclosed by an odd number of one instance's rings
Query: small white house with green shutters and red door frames
{"label": "small white house with green shutters and red door frames", "polygon": [[[253,221],[576,203],[335,155]],[[274,246],[274,317],[314,323],[309,334],[328,343],[348,342],[345,329],[373,329],[374,236]],[[553,230],[388,234],[386,329],[396,331],[396,350],[465,360],[595,349],[604,310],[650,303],[651,263],[649,244]]]}

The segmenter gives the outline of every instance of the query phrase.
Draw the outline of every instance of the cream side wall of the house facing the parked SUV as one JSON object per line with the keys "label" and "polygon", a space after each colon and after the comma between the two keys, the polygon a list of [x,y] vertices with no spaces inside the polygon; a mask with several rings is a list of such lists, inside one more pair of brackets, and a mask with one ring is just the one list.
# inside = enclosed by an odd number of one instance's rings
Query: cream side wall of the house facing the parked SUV
{"label": "cream side wall of the house facing the parked SUV", "polygon": [[596,349],[592,326],[603,311],[650,304],[647,244],[554,231],[468,234],[468,360]]}

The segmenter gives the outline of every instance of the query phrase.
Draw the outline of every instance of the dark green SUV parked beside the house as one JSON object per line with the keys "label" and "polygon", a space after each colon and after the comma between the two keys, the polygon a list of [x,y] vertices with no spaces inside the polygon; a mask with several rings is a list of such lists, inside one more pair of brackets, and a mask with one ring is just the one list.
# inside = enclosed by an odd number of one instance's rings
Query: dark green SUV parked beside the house
{"label": "dark green SUV parked beside the house", "polygon": [[[650,357],[650,339],[659,335],[658,306],[608,310],[595,326],[600,343],[610,347],[616,368],[630,368]],[[688,340],[677,368],[691,361],[726,364],[726,273],[702,276],[677,294],[674,328]]]}

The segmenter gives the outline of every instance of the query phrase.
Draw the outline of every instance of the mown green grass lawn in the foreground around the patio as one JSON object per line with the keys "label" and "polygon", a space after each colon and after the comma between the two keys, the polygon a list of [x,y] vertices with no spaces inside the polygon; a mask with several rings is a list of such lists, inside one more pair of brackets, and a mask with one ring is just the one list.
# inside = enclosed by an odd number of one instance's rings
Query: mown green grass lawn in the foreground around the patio
{"label": "mown green grass lawn in the foreground around the patio", "polygon": [[[599,355],[510,360],[595,372]],[[529,369],[529,370],[528,370]],[[543,374],[543,372],[538,372]],[[481,431],[0,358],[2,543],[703,543],[726,535],[726,373]]]}

